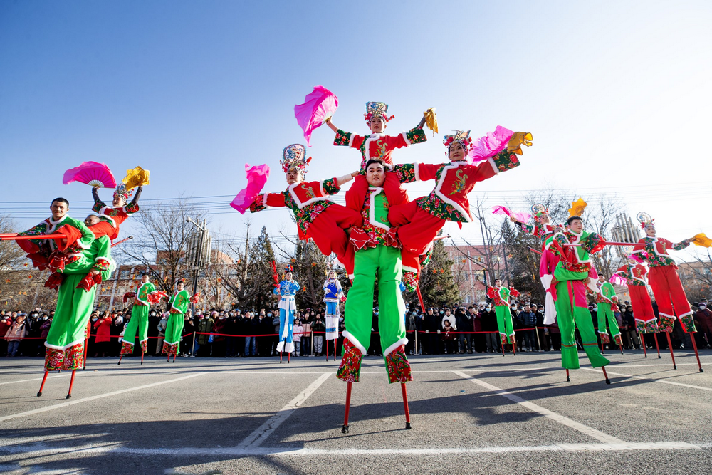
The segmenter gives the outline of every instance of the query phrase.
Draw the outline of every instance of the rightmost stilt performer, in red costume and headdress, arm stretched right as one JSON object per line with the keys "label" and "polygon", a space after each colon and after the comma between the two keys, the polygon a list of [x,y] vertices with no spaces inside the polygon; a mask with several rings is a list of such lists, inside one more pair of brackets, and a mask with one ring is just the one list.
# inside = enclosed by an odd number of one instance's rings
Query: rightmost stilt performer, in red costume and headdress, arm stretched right
{"label": "rightmost stilt performer, in red costume and headdress, arm stretched right", "polygon": [[[691,242],[696,241],[698,236],[684,239],[679,243],[672,243],[667,239],[656,236],[655,220],[652,219],[649,214],[643,212],[638,213],[637,219],[642,229],[645,230],[646,236],[638,241],[633,253],[642,254],[642,251],[645,251],[647,254],[643,259],[645,259],[648,266],[650,266],[650,287],[653,289],[653,295],[658,304],[658,328],[664,330],[668,340],[670,340],[670,333],[673,330],[675,319],[678,318],[682,325],[682,330],[685,333],[696,333],[697,329],[695,328],[692,309],[690,308],[689,301],[687,301],[680,276],[677,273],[677,263],[668,254],[668,250],[674,249],[681,251],[689,246]],[[695,350],[699,370],[703,372],[700,357],[697,352],[695,336],[690,335],[690,340]],[[670,343],[669,346],[672,350]]]}

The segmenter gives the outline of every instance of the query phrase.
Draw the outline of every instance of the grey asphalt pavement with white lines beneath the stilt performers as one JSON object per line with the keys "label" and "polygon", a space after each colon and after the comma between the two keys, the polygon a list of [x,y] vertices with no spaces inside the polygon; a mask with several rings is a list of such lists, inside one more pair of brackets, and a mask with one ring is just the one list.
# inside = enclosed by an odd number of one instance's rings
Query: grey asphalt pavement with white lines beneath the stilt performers
{"label": "grey asphalt pavement with white lines beneath the stilt performers", "polygon": [[346,384],[322,357],[88,360],[43,375],[0,360],[0,471],[11,474],[301,474],[712,470],[712,351],[607,352],[566,382],[558,353],[411,357],[400,385],[366,357],[342,433]]}

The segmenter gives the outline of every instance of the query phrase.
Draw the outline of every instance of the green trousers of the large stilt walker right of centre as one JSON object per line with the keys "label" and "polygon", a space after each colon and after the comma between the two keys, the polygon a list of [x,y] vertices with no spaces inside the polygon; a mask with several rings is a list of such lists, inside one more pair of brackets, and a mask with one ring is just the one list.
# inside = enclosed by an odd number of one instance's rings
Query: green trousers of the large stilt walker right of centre
{"label": "green trousers of the large stilt walker right of centre", "polygon": [[[554,274],[556,276],[556,274]],[[556,284],[556,320],[561,332],[561,366],[567,370],[579,368],[575,330],[578,328],[583,349],[593,367],[605,366],[609,360],[598,349],[598,337],[585,299],[582,281],[562,281]]]}

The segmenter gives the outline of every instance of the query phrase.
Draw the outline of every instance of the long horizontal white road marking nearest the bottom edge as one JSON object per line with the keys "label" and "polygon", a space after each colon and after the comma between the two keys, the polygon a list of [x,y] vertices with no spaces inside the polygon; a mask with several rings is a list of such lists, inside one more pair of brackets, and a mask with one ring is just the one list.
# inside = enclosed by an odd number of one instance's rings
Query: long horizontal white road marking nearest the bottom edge
{"label": "long horizontal white road marking nearest the bottom edge", "polygon": [[439,456],[442,454],[497,454],[506,452],[528,451],[637,451],[637,450],[700,450],[708,449],[712,444],[691,442],[608,442],[591,444],[550,444],[516,447],[423,447],[413,449],[311,449],[303,447],[179,447],[177,449],[157,448],[140,449],[105,445],[101,447],[72,446],[48,447],[47,444],[34,444],[27,447],[0,447],[0,454],[22,455],[26,459],[46,455],[72,454],[112,454],[132,456]]}

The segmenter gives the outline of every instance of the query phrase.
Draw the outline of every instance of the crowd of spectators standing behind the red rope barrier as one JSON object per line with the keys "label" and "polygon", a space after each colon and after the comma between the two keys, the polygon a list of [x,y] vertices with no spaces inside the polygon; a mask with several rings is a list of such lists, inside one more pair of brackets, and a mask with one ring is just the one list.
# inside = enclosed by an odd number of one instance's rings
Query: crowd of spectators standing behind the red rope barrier
{"label": "crowd of spectators standing behind the red rope barrier", "polygon": [[[657,315],[657,307],[654,311]],[[597,308],[589,306],[594,325],[597,326]],[[712,311],[707,301],[693,304],[694,320],[698,332],[694,334],[698,348],[712,348]],[[559,351],[561,335],[554,322],[544,325],[544,308],[536,303],[513,301],[512,320],[515,329],[515,350],[518,352]],[[43,356],[53,311],[35,308],[29,313],[0,311],[0,355]],[[622,336],[622,346],[626,349],[654,348],[652,334],[637,333],[634,309],[628,301],[614,311],[614,316]],[[378,335],[378,308],[373,312],[370,355],[381,355]],[[88,342],[88,357],[118,357],[121,340],[128,321],[130,308],[114,312],[95,310],[90,317],[92,328]],[[148,354],[160,355],[167,325],[167,313],[155,308],[148,317]],[[200,309],[184,315],[183,338],[180,354],[183,357],[270,357],[276,351],[279,333],[279,311],[277,308],[242,311]],[[455,355],[464,353],[498,353],[502,351],[498,333],[497,317],[490,303],[477,306],[430,307],[425,312],[419,305],[411,306],[404,315],[408,332],[406,351],[409,355]],[[341,353],[342,332],[345,329],[343,316],[339,322],[337,353]],[[323,308],[307,308],[295,313],[293,356],[323,356],[325,345],[325,314]],[[580,336],[576,332],[576,340]],[[690,335],[684,333],[675,321],[671,334],[673,348],[691,348]],[[667,348],[666,338],[658,340],[660,348]],[[604,345],[605,346],[605,345]],[[614,342],[608,344],[614,349]],[[580,346],[582,349],[582,346]],[[330,346],[333,351],[333,346]],[[510,351],[505,345],[504,351]],[[140,352],[140,345],[135,346]]]}

